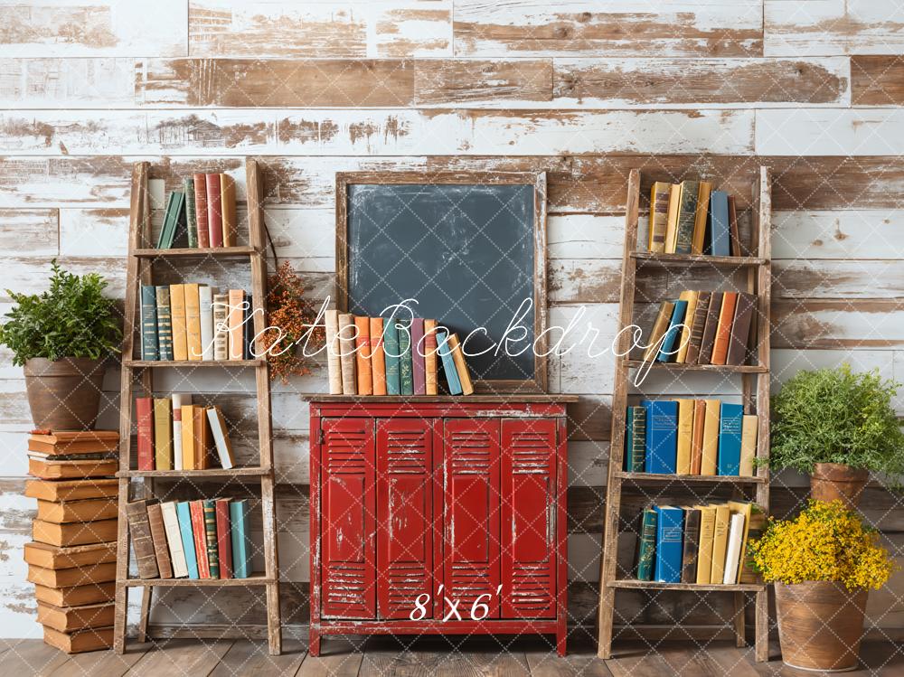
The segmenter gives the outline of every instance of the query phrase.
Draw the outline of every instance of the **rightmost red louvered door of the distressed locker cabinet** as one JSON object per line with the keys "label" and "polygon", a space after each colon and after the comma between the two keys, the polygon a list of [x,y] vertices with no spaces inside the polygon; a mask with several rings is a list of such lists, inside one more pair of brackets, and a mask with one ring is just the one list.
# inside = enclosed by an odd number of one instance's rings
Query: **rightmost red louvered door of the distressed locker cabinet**
{"label": "rightmost red louvered door of the distressed locker cabinet", "polygon": [[503,439],[504,618],[556,614],[556,422],[507,418]]}

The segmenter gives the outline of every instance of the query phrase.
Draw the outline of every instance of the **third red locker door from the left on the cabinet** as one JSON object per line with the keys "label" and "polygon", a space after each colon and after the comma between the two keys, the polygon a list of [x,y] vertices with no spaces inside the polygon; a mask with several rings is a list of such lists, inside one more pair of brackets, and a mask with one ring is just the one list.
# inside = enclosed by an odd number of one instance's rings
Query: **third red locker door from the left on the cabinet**
{"label": "third red locker door from the left on the cabinet", "polygon": [[480,597],[485,617],[498,618],[499,419],[449,418],[444,429],[445,589],[438,597],[458,602],[464,619]]}

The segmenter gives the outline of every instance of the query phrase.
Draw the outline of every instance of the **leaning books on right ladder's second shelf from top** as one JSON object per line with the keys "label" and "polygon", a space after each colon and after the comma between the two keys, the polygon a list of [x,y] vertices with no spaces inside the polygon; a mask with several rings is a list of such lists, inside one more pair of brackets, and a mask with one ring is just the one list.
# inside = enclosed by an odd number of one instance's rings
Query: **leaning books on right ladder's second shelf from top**
{"label": "leaning books on right ladder's second shelf from top", "polygon": [[659,306],[644,351],[645,362],[747,362],[757,296],[744,292],[683,291]]}

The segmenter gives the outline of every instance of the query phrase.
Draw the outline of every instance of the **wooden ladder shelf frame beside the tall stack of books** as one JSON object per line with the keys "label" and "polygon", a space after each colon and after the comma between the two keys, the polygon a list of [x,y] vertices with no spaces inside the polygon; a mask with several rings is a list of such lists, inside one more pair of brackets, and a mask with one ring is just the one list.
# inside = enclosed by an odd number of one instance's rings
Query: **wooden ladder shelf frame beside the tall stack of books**
{"label": "wooden ladder shelf frame beside the tall stack of books", "polygon": [[[148,193],[148,174],[150,165],[139,162],[132,169],[131,203],[129,207],[128,259],[126,267],[126,306],[125,306],[125,340],[123,343],[121,401],[119,415],[119,526],[117,546],[117,579],[116,579],[116,621],[114,627],[114,650],[123,653],[126,645],[128,588],[142,588],[141,616],[138,625],[138,641],[144,642],[147,634],[147,621],[150,612],[151,591],[153,588],[173,586],[203,586],[215,588],[219,586],[266,588],[267,599],[267,636],[269,653],[282,651],[282,633],[279,615],[279,567],[276,541],[276,516],[273,503],[273,447],[271,442],[270,384],[267,360],[233,360],[227,362],[178,362],[178,361],[142,361],[135,359],[135,334],[137,327],[137,304],[141,297],[140,287],[152,284],[152,269],[155,260],[165,260],[170,266],[177,266],[181,260],[197,262],[198,259],[246,259],[250,263],[251,294],[255,305],[264,313],[254,314],[254,332],[259,334],[265,327],[267,268],[264,256],[265,230],[263,215],[263,179],[258,164],[253,160],[245,163],[248,192],[248,229],[249,246],[216,248],[216,249],[153,249],[150,240],[151,208]],[[135,376],[140,378],[142,390],[146,396],[154,392],[153,374],[155,369],[196,367],[212,369],[254,369],[258,403],[258,446],[259,464],[251,467],[236,467],[231,470],[212,468],[209,470],[132,470],[130,465],[130,438],[132,431],[133,386]],[[263,550],[265,570],[250,578],[129,578],[129,535],[126,520],[126,503],[129,500],[129,484],[133,478],[144,479],[146,495],[153,495],[154,478],[191,478],[191,479],[233,479],[241,478],[243,482],[259,479],[260,506],[263,512]],[[212,636],[199,633],[197,625],[186,625],[167,636]],[[220,633],[217,637],[246,638],[240,626]]]}

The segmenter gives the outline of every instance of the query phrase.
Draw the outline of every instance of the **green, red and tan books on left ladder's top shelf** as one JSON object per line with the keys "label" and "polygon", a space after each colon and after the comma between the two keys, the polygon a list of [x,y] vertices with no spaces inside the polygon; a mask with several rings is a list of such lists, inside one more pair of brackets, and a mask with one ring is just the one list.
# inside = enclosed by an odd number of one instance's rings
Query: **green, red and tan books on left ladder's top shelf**
{"label": "green, red and tan books on left ladder's top shelf", "polygon": [[157,249],[234,247],[235,181],[229,174],[193,174],[166,201]]}

